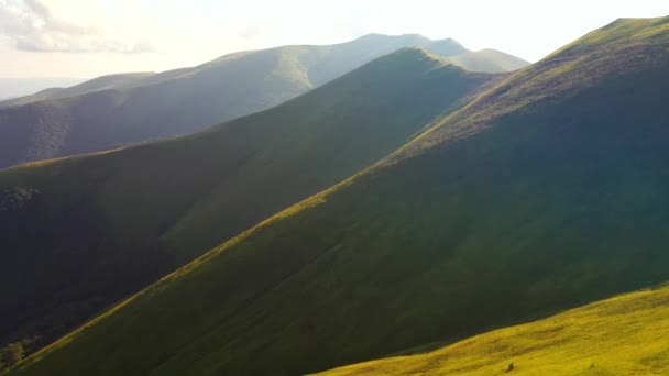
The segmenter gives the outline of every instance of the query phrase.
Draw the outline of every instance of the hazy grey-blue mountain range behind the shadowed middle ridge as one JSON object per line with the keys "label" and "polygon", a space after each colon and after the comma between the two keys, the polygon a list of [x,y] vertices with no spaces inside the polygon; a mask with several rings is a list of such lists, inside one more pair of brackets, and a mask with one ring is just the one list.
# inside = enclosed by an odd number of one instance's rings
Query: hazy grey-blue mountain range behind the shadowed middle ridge
{"label": "hazy grey-blue mountain range behind the shadowed middle ridge", "polygon": [[442,56],[469,53],[452,40],[371,34],[337,45],[235,53],[155,75],[107,76],[18,98],[0,103],[0,168],[200,131],[274,107],[407,46],[432,46]]}

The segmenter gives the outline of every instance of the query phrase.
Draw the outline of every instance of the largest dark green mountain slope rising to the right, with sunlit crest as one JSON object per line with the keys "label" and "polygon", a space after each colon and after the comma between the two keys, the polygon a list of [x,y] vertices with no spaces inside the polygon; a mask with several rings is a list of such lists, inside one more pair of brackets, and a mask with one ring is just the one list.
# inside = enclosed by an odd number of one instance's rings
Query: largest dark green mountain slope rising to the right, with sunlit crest
{"label": "largest dark green mountain slope rising to the right, with sunlit crest", "polygon": [[[669,18],[618,20],[490,81],[388,157],[251,226],[9,375],[312,373],[667,280],[668,47]],[[372,117],[424,102],[393,91],[413,101]],[[66,175],[53,176],[78,163],[96,166],[67,159],[13,170],[25,174],[21,184],[4,179],[39,197],[39,169],[65,185]],[[99,172],[88,176],[103,180]],[[151,198],[136,206],[162,210]]]}

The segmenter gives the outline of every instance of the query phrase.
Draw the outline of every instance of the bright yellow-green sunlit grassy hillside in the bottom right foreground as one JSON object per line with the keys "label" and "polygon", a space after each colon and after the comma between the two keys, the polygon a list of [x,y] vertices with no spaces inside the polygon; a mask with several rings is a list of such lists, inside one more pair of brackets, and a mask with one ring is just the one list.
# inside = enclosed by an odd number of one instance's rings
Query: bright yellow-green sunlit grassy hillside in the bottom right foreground
{"label": "bright yellow-green sunlit grassy hillside in the bottom right foreground", "polygon": [[[624,295],[440,350],[326,372],[343,375],[666,375],[669,288]],[[507,372],[513,363],[513,372]]]}

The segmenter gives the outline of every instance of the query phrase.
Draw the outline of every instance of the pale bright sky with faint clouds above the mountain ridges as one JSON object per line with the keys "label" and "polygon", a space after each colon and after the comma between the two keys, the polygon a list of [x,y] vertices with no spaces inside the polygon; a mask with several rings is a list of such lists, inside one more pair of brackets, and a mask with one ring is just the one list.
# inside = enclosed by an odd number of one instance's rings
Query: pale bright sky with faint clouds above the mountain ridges
{"label": "pale bright sky with faint clouds above the mountain ridges", "polygon": [[534,62],[616,18],[661,15],[669,0],[0,0],[0,78],[160,71],[372,32]]}

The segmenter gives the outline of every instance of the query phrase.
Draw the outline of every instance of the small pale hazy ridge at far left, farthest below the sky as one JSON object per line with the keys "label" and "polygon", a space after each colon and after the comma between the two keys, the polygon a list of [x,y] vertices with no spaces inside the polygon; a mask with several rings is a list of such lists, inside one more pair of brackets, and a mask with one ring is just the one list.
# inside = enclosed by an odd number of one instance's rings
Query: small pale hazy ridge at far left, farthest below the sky
{"label": "small pale hazy ridge at far left, farthest below the sky", "polygon": [[92,91],[121,89],[123,87],[132,86],[133,84],[136,84],[142,79],[153,75],[154,73],[131,73],[102,76],[75,85],[73,87],[45,89],[31,96],[2,101],[0,102],[0,109],[12,106],[28,104],[47,99],[80,96]]}

